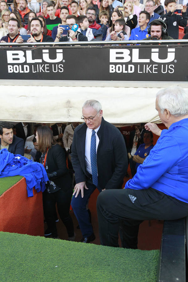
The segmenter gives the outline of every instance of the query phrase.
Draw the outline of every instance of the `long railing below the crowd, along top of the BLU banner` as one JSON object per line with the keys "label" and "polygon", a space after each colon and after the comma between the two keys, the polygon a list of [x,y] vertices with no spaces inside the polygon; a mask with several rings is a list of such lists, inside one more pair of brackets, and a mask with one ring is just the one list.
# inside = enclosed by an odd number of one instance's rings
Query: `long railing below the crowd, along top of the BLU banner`
{"label": "long railing below the crowd, along top of the BLU banner", "polygon": [[173,39],[173,40],[126,40],[126,41],[77,41],[77,42],[32,42],[32,43],[0,43],[0,47],[3,46],[72,46],[72,45],[138,45],[138,44],[188,44],[188,39]]}

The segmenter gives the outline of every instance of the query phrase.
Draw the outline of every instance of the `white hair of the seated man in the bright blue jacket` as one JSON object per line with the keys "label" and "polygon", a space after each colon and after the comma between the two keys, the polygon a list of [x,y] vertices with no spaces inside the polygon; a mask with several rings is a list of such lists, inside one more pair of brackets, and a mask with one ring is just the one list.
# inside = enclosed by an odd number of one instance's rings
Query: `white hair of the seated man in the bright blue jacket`
{"label": "white hair of the seated man in the bright blue jacket", "polygon": [[170,86],[157,92],[158,106],[161,113],[165,109],[175,116],[188,114],[188,93],[179,86]]}

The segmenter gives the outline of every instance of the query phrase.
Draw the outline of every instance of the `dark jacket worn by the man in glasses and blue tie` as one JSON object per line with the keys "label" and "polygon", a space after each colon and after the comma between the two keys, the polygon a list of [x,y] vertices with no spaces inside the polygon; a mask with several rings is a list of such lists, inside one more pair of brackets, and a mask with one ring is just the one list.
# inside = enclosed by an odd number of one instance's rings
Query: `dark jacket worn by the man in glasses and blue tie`
{"label": "dark jacket worn by the man in glasses and blue tie", "polygon": [[[74,131],[71,161],[75,171],[76,183],[86,181],[89,177],[85,161],[86,129],[86,123],[82,123]],[[128,167],[127,150],[123,136],[118,128],[106,122],[103,118],[97,135],[99,137],[97,148],[99,187],[101,189],[121,189],[123,177]]]}

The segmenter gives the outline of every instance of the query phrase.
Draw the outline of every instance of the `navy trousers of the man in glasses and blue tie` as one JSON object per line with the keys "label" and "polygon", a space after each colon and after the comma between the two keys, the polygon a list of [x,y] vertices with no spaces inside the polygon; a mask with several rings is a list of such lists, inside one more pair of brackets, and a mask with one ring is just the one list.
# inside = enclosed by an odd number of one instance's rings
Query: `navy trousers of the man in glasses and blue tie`
{"label": "navy trousers of the man in glasses and blue tie", "polygon": [[[86,205],[91,194],[97,188],[94,184],[86,182],[88,190],[84,189],[84,197],[81,197],[81,192],[75,198],[75,195],[72,197],[71,206],[73,208],[74,214],[78,220],[81,233],[84,238],[89,237],[93,233],[93,228],[90,222],[88,211],[86,210]],[[101,191],[99,188],[97,188]]]}

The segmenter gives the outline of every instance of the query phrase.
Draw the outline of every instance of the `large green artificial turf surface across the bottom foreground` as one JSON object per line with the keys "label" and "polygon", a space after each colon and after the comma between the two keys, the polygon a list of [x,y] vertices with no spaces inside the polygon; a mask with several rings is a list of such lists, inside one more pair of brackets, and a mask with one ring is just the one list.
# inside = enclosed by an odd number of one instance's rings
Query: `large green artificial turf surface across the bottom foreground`
{"label": "large green artificial turf surface across the bottom foreground", "polygon": [[156,281],[159,250],[0,232],[0,281]]}

